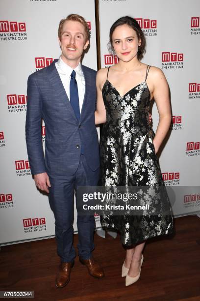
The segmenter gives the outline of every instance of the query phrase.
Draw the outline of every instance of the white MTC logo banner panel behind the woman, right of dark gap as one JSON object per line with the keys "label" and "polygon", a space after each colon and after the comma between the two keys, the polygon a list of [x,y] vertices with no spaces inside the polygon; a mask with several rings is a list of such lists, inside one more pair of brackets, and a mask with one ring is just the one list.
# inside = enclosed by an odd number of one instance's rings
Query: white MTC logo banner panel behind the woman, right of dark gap
{"label": "white MTC logo banner panel behind the woman, right of dark gap", "polygon": [[[99,14],[102,68],[118,61],[107,50],[110,27],[129,15],[146,37],[142,61],[162,69],[168,80],[173,123],[160,166],[166,185],[182,187],[174,188],[174,215],[194,214],[200,211],[200,1],[100,0]],[[155,131],[159,119],[155,103],[152,119]]]}

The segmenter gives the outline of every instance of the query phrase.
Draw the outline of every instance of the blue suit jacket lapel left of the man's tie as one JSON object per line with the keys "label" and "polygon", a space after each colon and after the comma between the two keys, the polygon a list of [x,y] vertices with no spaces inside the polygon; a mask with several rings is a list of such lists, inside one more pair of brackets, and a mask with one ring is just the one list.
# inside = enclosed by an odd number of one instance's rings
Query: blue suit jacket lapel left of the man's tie
{"label": "blue suit jacket lapel left of the man's tie", "polygon": [[63,87],[63,84],[62,84],[62,81],[58,74],[58,71],[55,67],[55,62],[56,62],[56,60],[54,60],[53,63],[50,64],[50,67],[48,68],[48,71],[49,71],[48,77],[49,77],[50,83],[51,83],[52,87],[54,88],[54,90],[56,91],[56,93],[58,94],[59,98],[65,103],[67,109],[71,112],[71,114],[75,118],[76,122],[78,122],[78,120],[75,117],[75,112],[71,106],[70,100]]}

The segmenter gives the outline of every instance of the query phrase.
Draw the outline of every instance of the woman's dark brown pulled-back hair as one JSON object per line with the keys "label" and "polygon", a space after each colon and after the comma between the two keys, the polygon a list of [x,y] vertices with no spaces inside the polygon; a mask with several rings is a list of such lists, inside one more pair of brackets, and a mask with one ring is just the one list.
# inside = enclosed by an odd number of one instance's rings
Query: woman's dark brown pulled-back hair
{"label": "woman's dark brown pulled-back hair", "polygon": [[112,45],[113,31],[118,26],[121,26],[121,25],[124,25],[124,24],[128,25],[130,28],[132,28],[133,30],[135,30],[136,33],[137,33],[138,40],[139,39],[141,40],[141,45],[139,46],[138,53],[137,53],[138,60],[141,60],[143,58],[145,52],[146,52],[146,50],[145,50],[146,39],[145,39],[144,33],[141,30],[141,27],[138,24],[138,22],[135,19],[133,19],[132,17],[130,17],[130,16],[125,16],[125,17],[119,18],[111,26],[111,28],[110,28],[110,34],[109,34],[110,41],[108,42],[108,45],[107,45],[108,50],[109,50],[110,53],[114,53],[114,48],[113,48],[113,45]]}

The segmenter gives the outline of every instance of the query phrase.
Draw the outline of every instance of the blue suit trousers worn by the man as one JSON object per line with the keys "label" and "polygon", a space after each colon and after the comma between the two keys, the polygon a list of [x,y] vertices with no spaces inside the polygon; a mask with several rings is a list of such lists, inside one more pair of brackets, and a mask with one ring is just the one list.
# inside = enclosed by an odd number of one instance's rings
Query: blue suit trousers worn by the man
{"label": "blue suit trousers worn by the man", "polygon": [[[77,186],[96,186],[99,180],[99,168],[92,171],[81,154],[78,168],[73,176],[50,177],[50,208],[55,217],[55,237],[57,253],[62,262],[72,261],[76,254],[73,246],[74,191]],[[95,218],[92,215],[77,215],[78,255],[89,259],[95,247],[93,242]]]}

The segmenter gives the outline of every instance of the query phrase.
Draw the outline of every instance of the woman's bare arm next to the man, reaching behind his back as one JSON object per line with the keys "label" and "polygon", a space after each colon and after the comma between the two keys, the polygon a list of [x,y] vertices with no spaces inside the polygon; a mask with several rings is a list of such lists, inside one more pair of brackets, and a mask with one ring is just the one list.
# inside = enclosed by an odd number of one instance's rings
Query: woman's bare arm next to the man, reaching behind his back
{"label": "woman's bare arm next to the man, reaching behind his back", "polygon": [[102,97],[102,86],[105,82],[106,72],[105,69],[100,69],[97,72],[96,85],[97,85],[97,107],[95,111],[95,124],[106,122],[106,111]]}

